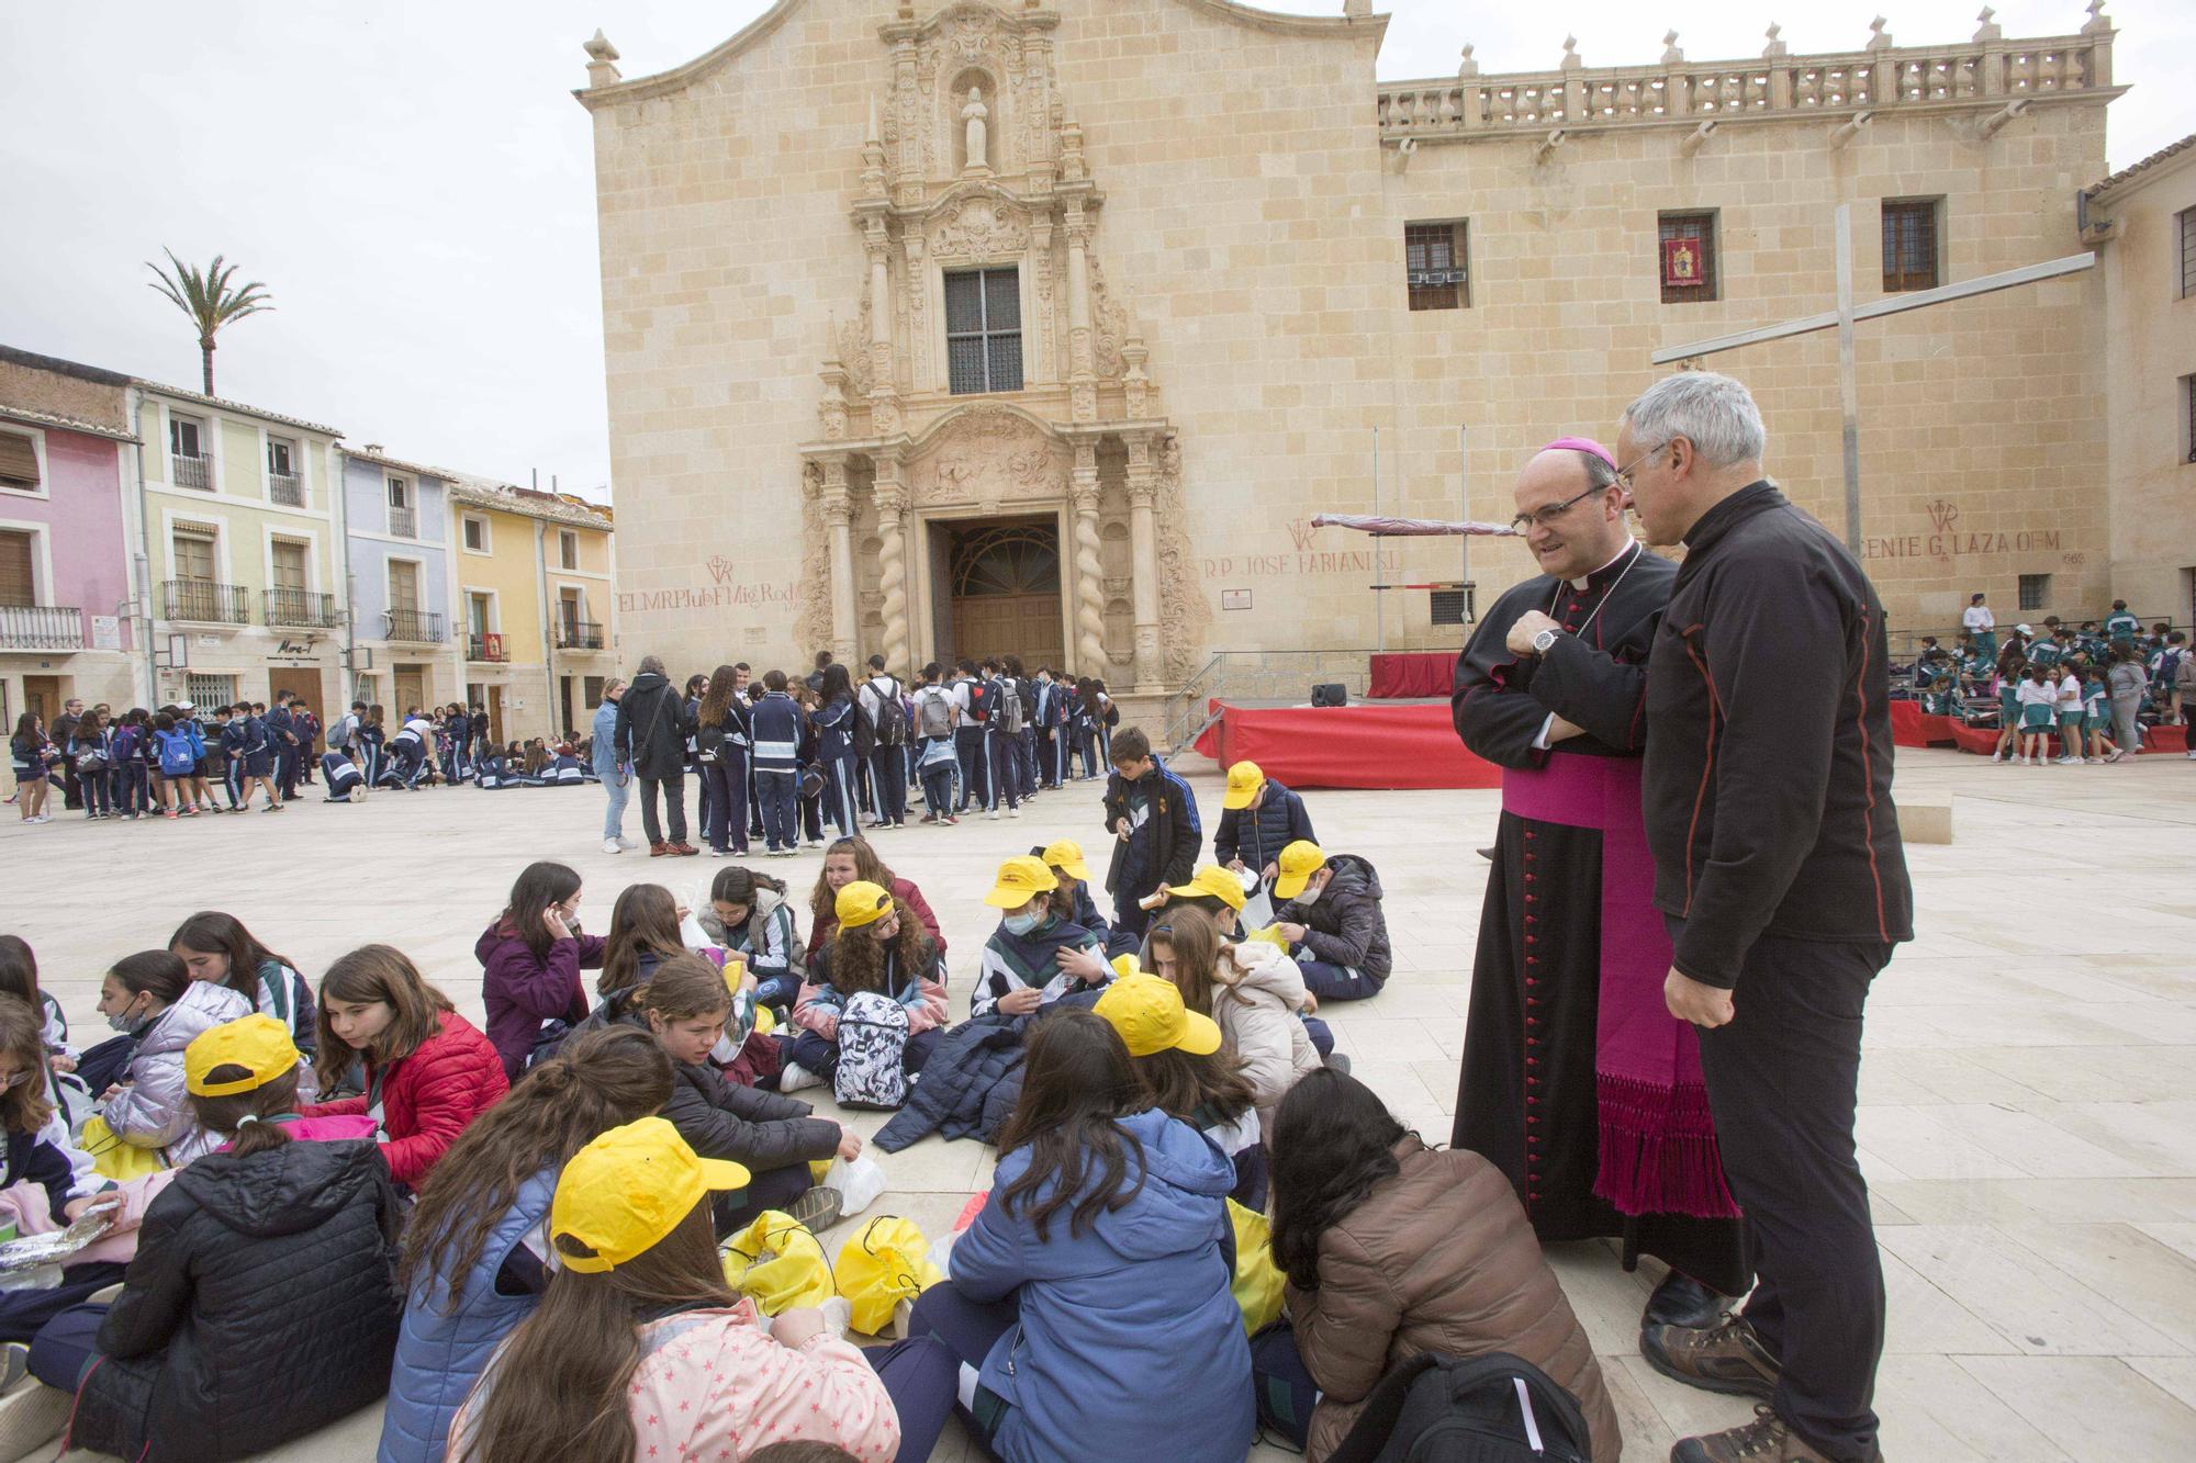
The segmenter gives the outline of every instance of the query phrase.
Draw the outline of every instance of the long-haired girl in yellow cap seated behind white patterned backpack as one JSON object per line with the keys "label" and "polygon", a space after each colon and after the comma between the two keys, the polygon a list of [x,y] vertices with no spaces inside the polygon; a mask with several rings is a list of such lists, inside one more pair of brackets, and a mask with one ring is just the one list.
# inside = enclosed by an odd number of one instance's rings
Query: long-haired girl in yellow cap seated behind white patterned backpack
{"label": "long-haired girl in yellow cap seated behind white patterned backpack", "polygon": [[900,1063],[920,1072],[946,1024],[946,962],[916,923],[914,912],[865,879],[839,890],[837,938],[808,962],[808,980],[793,1006],[799,1035],[777,1072],[780,1092],[815,1087],[839,1070],[839,1015],[865,991],[907,1008],[907,1046]]}

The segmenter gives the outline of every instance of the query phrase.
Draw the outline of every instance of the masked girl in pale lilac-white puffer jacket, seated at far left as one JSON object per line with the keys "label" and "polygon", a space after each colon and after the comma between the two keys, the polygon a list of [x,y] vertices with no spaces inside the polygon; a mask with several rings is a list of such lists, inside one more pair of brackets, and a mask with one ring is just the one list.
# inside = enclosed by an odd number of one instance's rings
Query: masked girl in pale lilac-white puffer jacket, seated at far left
{"label": "masked girl in pale lilac-white puffer jacket, seated at far left", "polygon": [[180,956],[143,949],[108,971],[99,986],[99,1013],[136,1043],[123,1079],[108,1087],[101,1107],[114,1136],[138,1149],[158,1149],[169,1169],[220,1147],[220,1138],[191,1116],[182,1048],[204,1030],[248,1017],[250,1002],[228,986],[191,980]]}

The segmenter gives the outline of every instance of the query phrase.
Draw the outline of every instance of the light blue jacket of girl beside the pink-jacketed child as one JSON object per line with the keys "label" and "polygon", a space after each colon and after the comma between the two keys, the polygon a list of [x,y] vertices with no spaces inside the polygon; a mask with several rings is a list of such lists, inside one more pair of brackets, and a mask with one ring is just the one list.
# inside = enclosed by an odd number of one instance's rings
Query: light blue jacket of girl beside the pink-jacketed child
{"label": "light blue jacket of girl beside the pink-jacketed child", "polygon": [[404,1298],[378,1463],[441,1463],[457,1408],[466,1404],[488,1358],[540,1300],[531,1294],[498,1294],[496,1272],[503,1267],[503,1257],[549,1217],[553,1197],[556,1173],[549,1171],[518,1186],[518,1199],[490,1230],[481,1259],[461,1276],[457,1307],[448,1314],[448,1276],[426,1276]]}

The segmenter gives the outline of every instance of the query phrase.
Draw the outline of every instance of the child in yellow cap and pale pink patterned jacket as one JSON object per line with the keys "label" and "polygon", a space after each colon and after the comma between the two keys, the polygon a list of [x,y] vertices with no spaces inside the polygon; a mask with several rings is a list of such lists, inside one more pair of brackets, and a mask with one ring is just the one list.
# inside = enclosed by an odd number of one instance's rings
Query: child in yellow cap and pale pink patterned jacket
{"label": "child in yellow cap and pale pink patterned jacket", "polygon": [[744,1459],[817,1441],[863,1463],[929,1456],[955,1362],[935,1340],[865,1355],[815,1309],[731,1294],[712,1197],[744,1186],[663,1118],[571,1155],[549,1208],[558,1270],[450,1428],[466,1463]]}

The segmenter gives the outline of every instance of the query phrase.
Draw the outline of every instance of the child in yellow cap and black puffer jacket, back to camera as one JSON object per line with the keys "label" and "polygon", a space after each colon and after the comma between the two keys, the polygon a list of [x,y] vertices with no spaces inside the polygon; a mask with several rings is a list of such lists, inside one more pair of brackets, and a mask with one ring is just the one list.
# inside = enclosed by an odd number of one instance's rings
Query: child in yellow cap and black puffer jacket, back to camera
{"label": "child in yellow cap and black puffer jacket, back to camera", "polygon": [[55,1316],[31,1371],[77,1393],[70,1443],[125,1459],[279,1448],[380,1401],[402,1206],[371,1140],[296,1142],[299,1052],[248,1015],[184,1052],[226,1147],[158,1193],[112,1307]]}

